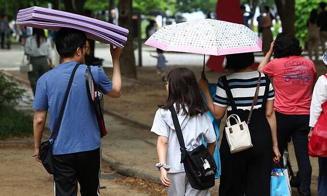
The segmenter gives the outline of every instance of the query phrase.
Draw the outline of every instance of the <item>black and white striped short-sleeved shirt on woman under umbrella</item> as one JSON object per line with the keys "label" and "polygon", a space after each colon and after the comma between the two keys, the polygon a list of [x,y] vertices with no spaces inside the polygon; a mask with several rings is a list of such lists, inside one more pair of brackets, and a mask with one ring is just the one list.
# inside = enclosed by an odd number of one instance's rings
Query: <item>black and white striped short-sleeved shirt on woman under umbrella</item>
{"label": "black and white striped short-sleeved shirt on woman under umbrella", "polygon": [[[227,78],[228,85],[231,89],[232,95],[234,97],[237,108],[250,110],[253,102],[257,82],[259,79],[259,73],[257,71],[234,72],[227,75],[226,78]],[[269,78],[266,78],[265,75],[261,73],[261,85],[259,88],[257,103],[253,107],[254,109],[261,107],[266,82],[270,83]],[[275,96],[274,89],[272,88],[272,85],[270,83],[267,100],[274,99],[274,96]],[[227,94],[225,92],[225,88],[221,78],[218,79],[214,104],[222,107],[227,106],[227,110],[232,109],[231,103],[227,98]]]}

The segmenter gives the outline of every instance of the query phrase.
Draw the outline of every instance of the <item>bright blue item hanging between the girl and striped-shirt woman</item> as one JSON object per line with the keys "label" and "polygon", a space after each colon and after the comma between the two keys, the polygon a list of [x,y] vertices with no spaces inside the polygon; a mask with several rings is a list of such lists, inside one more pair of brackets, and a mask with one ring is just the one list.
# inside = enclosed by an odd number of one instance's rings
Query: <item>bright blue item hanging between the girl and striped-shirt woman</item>
{"label": "bright blue item hanging between the girl and striped-shirt woman", "polygon": [[[216,95],[216,89],[217,89],[217,85],[216,84],[209,84],[209,91],[210,91],[210,95],[211,98],[214,98]],[[202,92],[201,92],[202,94]],[[204,95],[202,94],[202,98],[203,100],[207,103],[207,99],[204,97]],[[217,165],[217,174],[215,175],[215,178],[218,179],[220,177],[221,174],[221,165],[220,165],[220,153],[219,153],[219,147],[218,147],[218,141],[219,141],[219,126],[220,126],[220,120],[216,120],[213,116],[213,114],[210,111],[207,111],[208,116],[211,119],[212,125],[214,126],[216,135],[217,135],[217,140],[216,140],[216,149],[214,152],[214,160],[216,162]],[[202,137],[202,143],[207,146],[207,144],[204,142],[204,139]]]}

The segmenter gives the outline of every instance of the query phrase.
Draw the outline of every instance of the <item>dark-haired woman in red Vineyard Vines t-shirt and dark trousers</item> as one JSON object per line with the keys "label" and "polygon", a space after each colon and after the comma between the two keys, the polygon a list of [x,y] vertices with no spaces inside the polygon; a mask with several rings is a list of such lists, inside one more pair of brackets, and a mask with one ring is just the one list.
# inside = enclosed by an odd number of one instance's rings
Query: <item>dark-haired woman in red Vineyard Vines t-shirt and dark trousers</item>
{"label": "dark-haired woman in red Vineyard Vines t-shirt and dark trousers", "polygon": [[[312,168],[308,154],[308,133],[312,90],[317,78],[315,64],[301,56],[300,42],[294,35],[279,33],[258,67],[273,78],[279,151],[283,154],[292,138],[301,196],[310,196]],[[271,56],[274,60],[270,61]],[[270,62],[269,62],[270,61]],[[281,160],[280,165],[283,165]]]}

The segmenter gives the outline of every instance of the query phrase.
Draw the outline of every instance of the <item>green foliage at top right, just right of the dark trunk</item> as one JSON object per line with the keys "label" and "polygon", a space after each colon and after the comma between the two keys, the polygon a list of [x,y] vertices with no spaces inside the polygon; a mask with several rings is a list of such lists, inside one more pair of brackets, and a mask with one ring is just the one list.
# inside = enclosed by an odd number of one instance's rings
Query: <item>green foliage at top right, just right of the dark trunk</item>
{"label": "green foliage at top right, just right of the dark trunk", "polygon": [[302,46],[307,41],[307,21],[310,12],[312,9],[318,9],[319,3],[322,1],[327,2],[327,0],[296,0],[295,2],[295,36],[300,40]]}

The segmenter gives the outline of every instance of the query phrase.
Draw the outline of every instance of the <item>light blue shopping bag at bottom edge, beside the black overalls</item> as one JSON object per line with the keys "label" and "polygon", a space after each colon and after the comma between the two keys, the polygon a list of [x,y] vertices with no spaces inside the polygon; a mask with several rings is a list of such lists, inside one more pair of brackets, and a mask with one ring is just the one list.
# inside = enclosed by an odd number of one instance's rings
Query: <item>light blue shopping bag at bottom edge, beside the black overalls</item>
{"label": "light blue shopping bag at bottom edge, beside the black overalls", "polygon": [[270,177],[270,195],[271,196],[291,196],[290,180],[288,178],[287,169],[274,169],[278,176]]}

